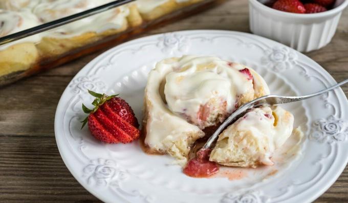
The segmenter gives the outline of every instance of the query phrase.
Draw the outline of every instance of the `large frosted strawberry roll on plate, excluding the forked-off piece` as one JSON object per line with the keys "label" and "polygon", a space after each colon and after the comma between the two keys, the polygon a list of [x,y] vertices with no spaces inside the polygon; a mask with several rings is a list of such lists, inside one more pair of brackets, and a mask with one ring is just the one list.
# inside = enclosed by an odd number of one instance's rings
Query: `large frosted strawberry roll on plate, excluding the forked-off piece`
{"label": "large frosted strawberry roll on plate, excluding the forked-off piece", "polygon": [[144,144],[185,163],[203,129],[267,94],[263,78],[242,64],[217,57],[165,59],[150,72],[145,88]]}

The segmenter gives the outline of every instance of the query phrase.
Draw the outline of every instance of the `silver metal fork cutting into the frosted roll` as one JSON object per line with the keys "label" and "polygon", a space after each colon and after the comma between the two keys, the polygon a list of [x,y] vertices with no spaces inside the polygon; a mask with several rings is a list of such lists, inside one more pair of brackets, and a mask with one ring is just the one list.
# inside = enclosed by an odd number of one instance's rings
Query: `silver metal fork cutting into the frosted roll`
{"label": "silver metal fork cutting into the frosted roll", "polygon": [[277,104],[285,104],[285,103],[290,103],[290,102],[295,102],[295,101],[300,101],[300,100],[305,100],[309,99],[318,95],[322,95],[326,92],[331,91],[332,89],[341,86],[342,84],[345,84],[348,82],[348,79],[345,79],[344,81],[337,83],[331,87],[328,87],[326,89],[323,89],[322,91],[309,94],[309,95],[303,95],[303,96],[291,96],[291,97],[286,97],[286,96],[279,96],[279,95],[266,95],[263,97],[259,97],[257,99],[254,99],[241,107],[239,107],[236,111],[234,111],[231,116],[229,116],[219,128],[212,134],[212,136],[209,138],[209,140],[205,143],[205,145],[202,147],[200,150],[208,149],[210,148],[211,144],[216,140],[217,136],[221,133],[223,129],[235,120],[237,118],[240,118],[241,115],[245,114],[245,112],[251,108],[258,107],[258,106],[263,106],[263,105],[277,105]]}

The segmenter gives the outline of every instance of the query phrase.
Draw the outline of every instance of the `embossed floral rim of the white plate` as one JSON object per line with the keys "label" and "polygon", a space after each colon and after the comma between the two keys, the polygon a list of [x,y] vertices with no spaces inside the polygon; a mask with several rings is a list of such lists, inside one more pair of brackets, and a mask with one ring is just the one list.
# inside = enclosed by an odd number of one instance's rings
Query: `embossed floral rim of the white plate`
{"label": "embossed floral rim of the white plate", "polygon": [[[106,51],[87,64],[74,77],[62,94],[57,106],[55,134],[58,149],[64,163],[83,187],[101,200],[107,202],[114,201],[115,199],[122,202],[160,202],[161,197],[160,194],[148,194],[150,192],[146,193],[142,191],[141,186],[137,188],[127,188],[127,183],[132,185],[132,181],[129,180],[133,177],[129,177],[129,171],[127,171],[127,169],[122,169],[117,162],[112,160],[115,154],[110,154],[110,151],[104,154],[105,157],[98,157],[95,159],[83,157],[87,156],[86,152],[90,152],[86,151],[86,149],[92,150],[92,152],[95,153],[104,153],[100,150],[102,147],[94,149],[89,146],[94,142],[93,140],[74,137],[73,134],[75,132],[73,130],[75,129],[71,128],[71,125],[73,125],[72,123],[80,119],[79,104],[86,97],[84,95],[86,88],[92,88],[99,91],[107,90],[106,85],[95,76],[104,74],[104,76],[107,77],[105,74],[110,71],[112,66],[115,66],[115,61],[113,61],[113,59],[117,58],[116,55],[120,53],[127,53],[128,55],[136,56],[137,52],[145,52],[147,49],[150,49],[153,53],[149,54],[158,54],[162,58],[181,56],[183,54],[191,54],[194,49],[199,49],[193,48],[193,46],[191,46],[192,43],[195,43],[195,46],[197,46],[197,44],[206,44],[203,45],[203,47],[206,46],[205,48],[209,49],[216,43],[222,43],[221,40],[235,43],[234,46],[241,49],[253,50],[248,53],[248,56],[250,55],[252,60],[256,60],[257,58],[257,65],[260,65],[262,66],[262,69],[267,69],[267,71],[279,76],[279,78],[284,80],[287,84],[290,86],[292,85],[292,88],[295,90],[296,85],[303,88],[301,89],[302,92],[305,91],[304,89],[307,89],[307,93],[308,91],[313,92],[314,88],[309,85],[295,84],[294,81],[298,81],[301,84],[315,84],[317,87],[315,90],[335,83],[335,80],[330,76],[330,74],[305,55],[280,43],[247,33],[218,30],[181,31],[143,37],[123,43],[120,46]],[[222,46],[221,49],[226,49],[226,47]],[[226,52],[229,49],[230,48],[227,47],[227,50],[223,50],[221,53],[225,52],[224,54],[226,55]],[[194,52],[195,54],[200,54],[201,52],[202,54],[206,54],[205,50],[196,50]],[[220,52],[220,50],[216,52]],[[221,53],[217,54],[219,55]],[[234,54],[238,55],[238,53]],[[149,61],[146,60],[146,57],[139,58],[139,60],[144,60],[144,63],[147,64],[149,63]],[[248,63],[248,61],[237,62]],[[117,75],[119,74],[119,77],[116,78],[115,83],[108,81],[107,85],[117,86],[121,85],[121,83],[127,83],[129,82],[128,80],[132,79],[129,79],[128,76],[133,77],[137,74],[145,73],[148,71],[149,67],[137,67],[137,69],[135,67],[129,67],[129,69],[131,70],[113,70],[113,73],[117,73]],[[132,70],[138,71],[132,72]],[[296,74],[299,74],[300,77]],[[108,89],[108,92],[112,93],[112,91],[112,89]],[[298,94],[298,91],[296,94]],[[315,176],[309,177],[307,180],[307,175],[310,176],[310,174],[303,173],[305,174],[303,178],[295,178],[291,182],[288,180],[291,178],[290,176],[289,178],[287,177],[288,179],[279,178],[277,183],[279,188],[275,188],[274,191],[272,191],[272,188],[270,188],[269,185],[266,185],[265,188],[238,190],[237,192],[216,194],[215,196],[203,195],[205,199],[207,199],[207,201],[225,203],[238,202],[243,199],[253,200],[255,202],[310,202],[327,190],[335,182],[348,161],[348,157],[345,156],[347,150],[344,149],[344,145],[347,144],[347,118],[343,114],[343,112],[348,109],[347,100],[342,90],[337,89],[335,92],[312,101],[315,102],[311,103],[308,101],[303,105],[307,106],[307,108],[327,108],[325,109],[325,112],[328,111],[328,114],[319,115],[314,115],[316,112],[310,111],[309,115],[310,117],[313,117],[310,118],[310,122],[312,122],[313,125],[309,126],[310,128],[306,131],[309,138],[308,140],[310,140],[306,143],[306,145],[308,145],[306,150],[311,147],[317,147],[318,149],[322,148],[323,150],[319,154],[314,155],[311,154],[313,150],[309,151],[311,152],[310,155],[307,155],[306,153],[304,155],[305,158],[303,159],[307,159],[307,156],[316,157],[313,158],[313,163],[301,162],[301,165],[309,164],[310,167],[317,167],[315,169],[318,169],[318,173],[316,173]],[[64,118],[71,119],[67,120]],[[70,134],[70,137],[67,136],[67,134]],[[102,146],[107,148],[106,145]],[[110,157],[112,159],[110,159]],[[296,169],[293,170],[296,171]],[[122,182],[125,179],[127,179],[128,182]],[[306,179],[306,181],[303,181],[304,179]],[[280,187],[281,185],[284,187]],[[102,186],[107,186],[107,188]],[[299,190],[304,190],[304,192],[299,192]],[[175,192],[176,191],[170,192],[168,195],[174,195],[176,194]],[[187,201],[182,200],[182,202],[191,202],[191,194],[186,195],[188,196],[185,198]]]}

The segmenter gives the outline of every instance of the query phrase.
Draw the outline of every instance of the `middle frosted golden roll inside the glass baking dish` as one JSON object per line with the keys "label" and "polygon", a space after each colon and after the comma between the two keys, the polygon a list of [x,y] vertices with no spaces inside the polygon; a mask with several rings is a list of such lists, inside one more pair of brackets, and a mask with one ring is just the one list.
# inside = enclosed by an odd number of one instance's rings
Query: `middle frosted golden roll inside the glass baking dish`
{"label": "middle frosted golden roll inside the glass baking dish", "polygon": [[[34,12],[43,21],[51,21],[94,8],[99,4],[100,2],[96,4],[96,1],[55,1],[55,4],[50,6],[40,4],[34,9]],[[129,12],[130,10],[123,6],[64,25],[48,32],[37,47],[42,55],[60,55],[93,43],[105,36],[120,33],[128,28],[127,16]]]}

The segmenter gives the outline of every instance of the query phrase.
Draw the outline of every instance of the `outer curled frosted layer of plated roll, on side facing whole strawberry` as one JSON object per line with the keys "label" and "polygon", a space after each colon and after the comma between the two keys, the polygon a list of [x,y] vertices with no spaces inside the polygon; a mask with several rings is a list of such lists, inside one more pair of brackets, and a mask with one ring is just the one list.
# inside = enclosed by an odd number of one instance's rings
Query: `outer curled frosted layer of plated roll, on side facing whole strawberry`
{"label": "outer curled frosted layer of plated roll, on side facing whole strawberry", "polygon": [[[185,119],[171,112],[164,103],[159,90],[165,76],[172,72],[179,58],[169,58],[156,64],[156,68],[148,75],[145,88],[146,101],[146,138],[145,144],[150,149],[170,153],[178,159],[185,159],[180,151],[189,150],[188,137],[194,140],[203,137],[202,130]],[[193,140],[193,141],[194,141]],[[176,144],[175,144],[176,143]]]}

